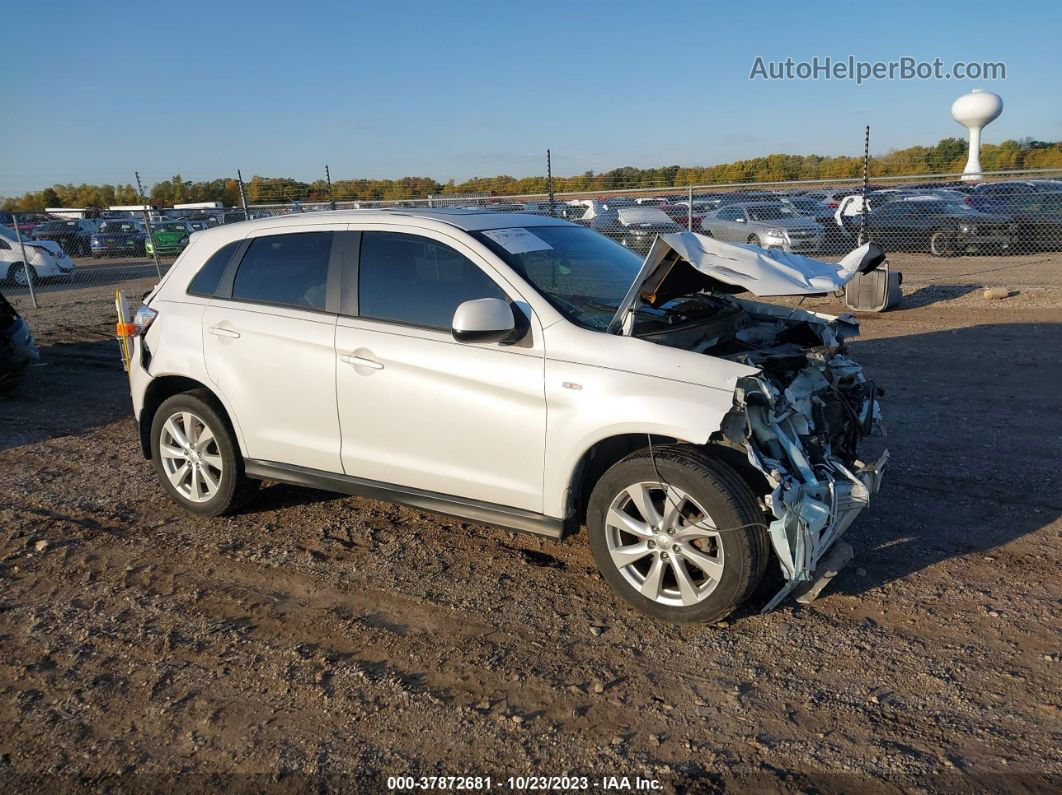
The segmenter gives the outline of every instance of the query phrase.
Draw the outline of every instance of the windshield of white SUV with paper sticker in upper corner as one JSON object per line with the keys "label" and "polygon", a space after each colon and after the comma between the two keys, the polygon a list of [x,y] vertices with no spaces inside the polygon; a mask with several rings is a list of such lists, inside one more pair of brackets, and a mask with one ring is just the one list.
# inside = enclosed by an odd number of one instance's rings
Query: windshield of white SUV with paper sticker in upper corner
{"label": "windshield of white SUV with paper sticker in upper corner", "polygon": [[637,254],[581,226],[487,229],[472,235],[561,314],[585,328],[607,328],[641,269]]}

